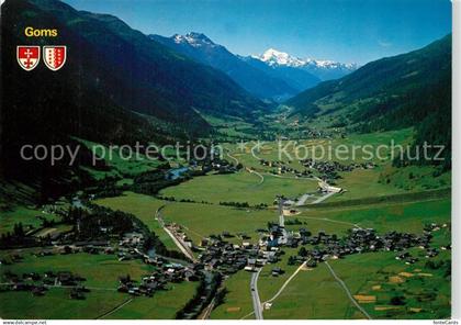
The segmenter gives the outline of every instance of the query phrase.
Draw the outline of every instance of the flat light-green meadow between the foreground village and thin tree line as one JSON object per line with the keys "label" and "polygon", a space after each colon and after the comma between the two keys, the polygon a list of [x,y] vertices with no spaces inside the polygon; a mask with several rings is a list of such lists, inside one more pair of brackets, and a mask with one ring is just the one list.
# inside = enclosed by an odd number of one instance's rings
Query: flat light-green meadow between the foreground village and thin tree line
{"label": "flat light-green meadow between the foreground village and thin tree line", "polygon": [[[154,218],[155,211],[164,204],[166,204],[161,211],[164,220],[183,226],[184,232],[194,243],[199,243],[203,237],[212,234],[217,235],[223,232],[229,232],[233,235],[245,233],[251,236],[250,242],[256,243],[259,239],[256,229],[266,228],[268,222],[278,222],[278,212],[276,209],[237,209],[218,204],[167,202],[132,192],[125,192],[123,197],[119,198],[97,200],[95,203],[113,210],[122,210],[135,214],[155,231],[170,249],[177,249],[175,243],[159,228],[158,222]],[[310,215],[310,212],[303,212],[299,215],[286,216],[286,221],[299,217],[304,222],[302,225],[288,225],[286,227],[293,231],[300,227],[308,227],[312,232],[322,229],[327,233],[345,234],[352,226],[350,224],[311,220],[308,218]],[[238,238],[231,240],[241,242]]]}

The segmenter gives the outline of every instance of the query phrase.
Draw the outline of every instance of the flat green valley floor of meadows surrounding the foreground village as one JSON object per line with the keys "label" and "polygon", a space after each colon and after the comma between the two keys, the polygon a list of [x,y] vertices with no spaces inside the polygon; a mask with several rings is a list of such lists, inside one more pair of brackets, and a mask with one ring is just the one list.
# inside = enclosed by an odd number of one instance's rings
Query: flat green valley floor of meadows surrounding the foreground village
{"label": "flat green valley floor of meadows surrounding the foreground village", "polygon": [[[380,138],[363,141],[382,142],[383,137],[387,139],[386,136],[384,134]],[[177,243],[156,218],[160,208],[164,221],[180,225],[195,245],[210,235],[223,232],[234,235],[228,238],[234,244],[241,244],[239,234],[245,234],[246,240],[257,244],[259,235],[256,229],[266,228],[269,222],[278,222],[278,210],[273,201],[282,194],[294,201],[303,198],[300,206],[285,213],[289,232],[308,228],[313,234],[325,232],[340,237],[351,228],[361,227],[374,228],[379,234],[393,231],[423,234],[427,224],[435,223],[448,226],[432,233],[431,245],[438,249],[450,245],[449,173],[428,179],[430,168],[396,169],[390,161],[380,162],[372,169],[339,172],[340,178],[335,186],[347,191],[333,194],[319,204],[312,204],[323,195],[317,192],[318,181],[315,177],[280,173],[272,167],[262,166],[251,150],[239,152],[232,144],[225,147],[229,161],[241,162],[245,168],[235,173],[194,177],[161,190],[158,198],[126,191],[122,195],[99,199],[94,203],[134,214],[158,235],[169,250],[176,251],[180,251]],[[274,144],[268,143],[258,157],[276,160],[273,149]],[[294,169],[301,168],[299,161],[285,162]],[[408,177],[409,172],[412,177]],[[128,183],[132,181],[125,180]],[[428,190],[435,190],[434,194],[425,194]],[[393,195],[401,197],[395,199]],[[161,198],[175,198],[175,201]],[[381,198],[381,201],[370,201],[375,198]],[[247,204],[237,208],[227,204],[229,202]],[[25,208],[2,213],[2,233],[11,231],[12,220],[16,215],[21,215],[24,224],[37,226],[34,218],[36,213],[38,211]],[[290,257],[297,255],[299,249],[284,247],[280,261],[261,268],[257,287],[265,318],[450,316],[450,250],[440,250],[438,256],[428,259],[424,249],[411,248],[412,256],[418,258],[412,265],[395,259],[396,253],[379,251],[331,259],[328,265],[321,262],[310,268],[289,261]],[[0,276],[3,277],[8,271],[22,273],[45,271],[52,267],[65,268],[87,278],[88,287],[94,290],[82,301],[68,299],[69,292],[63,288],[53,288],[40,298],[32,296],[30,292],[0,292],[1,317],[173,318],[192,299],[198,285],[194,282],[170,284],[168,290],[155,293],[151,299],[130,299],[113,291],[117,277],[130,273],[139,278],[148,271],[148,266],[136,260],[117,261],[112,255],[35,257],[32,253],[33,248],[1,251],[2,258],[21,254],[24,259],[11,266],[0,266]],[[200,253],[194,254],[198,256]],[[277,267],[284,272],[274,277],[272,270]],[[226,289],[226,294],[223,302],[214,306],[210,318],[255,318],[250,282],[251,272],[244,270],[225,279],[222,287]]]}

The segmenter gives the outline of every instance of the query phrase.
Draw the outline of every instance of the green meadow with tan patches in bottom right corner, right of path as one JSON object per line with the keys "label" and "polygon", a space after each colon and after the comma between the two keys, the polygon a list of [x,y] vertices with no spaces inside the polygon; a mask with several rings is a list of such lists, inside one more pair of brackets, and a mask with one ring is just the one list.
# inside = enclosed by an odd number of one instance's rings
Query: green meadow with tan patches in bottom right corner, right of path
{"label": "green meadow with tan patches in bottom right corner, right of path", "polygon": [[[417,250],[412,253],[418,256]],[[331,261],[330,265],[353,294],[375,296],[375,303],[361,303],[373,318],[448,317],[451,281],[445,269],[426,267],[427,259],[423,256],[413,266],[404,265],[394,257],[392,253],[364,254]],[[432,260],[450,260],[450,254],[442,251]],[[357,277],[359,272],[362,277]],[[405,304],[393,305],[393,296],[404,296]],[[356,313],[357,309],[350,306],[346,317]]]}

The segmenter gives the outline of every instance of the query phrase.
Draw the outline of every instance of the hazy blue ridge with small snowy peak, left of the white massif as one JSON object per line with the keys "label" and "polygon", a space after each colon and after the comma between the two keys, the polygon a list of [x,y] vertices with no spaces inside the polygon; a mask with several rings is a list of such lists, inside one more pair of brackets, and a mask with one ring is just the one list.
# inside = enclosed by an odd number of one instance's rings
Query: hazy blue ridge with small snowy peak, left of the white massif
{"label": "hazy blue ridge with small snowy peak, left of the white massif", "polygon": [[239,86],[260,99],[286,99],[299,92],[284,80],[250,66],[226,47],[215,44],[203,34],[177,34],[171,37],[149,35],[149,37],[199,63],[225,72]]}

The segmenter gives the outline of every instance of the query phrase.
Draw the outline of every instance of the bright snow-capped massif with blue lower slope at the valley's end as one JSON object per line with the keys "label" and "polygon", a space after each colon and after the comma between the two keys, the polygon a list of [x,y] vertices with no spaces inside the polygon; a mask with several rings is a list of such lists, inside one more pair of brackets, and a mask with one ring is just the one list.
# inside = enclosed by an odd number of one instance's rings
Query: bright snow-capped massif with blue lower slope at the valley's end
{"label": "bright snow-capped massif with blue lower slope at the valley's end", "polygon": [[304,69],[322,80],[337,79],[355,71],[356,64],[342,64],[334,60],[319,60],[313,58],[299,58],[288,53],[269,48],[261,55],[252,55],[270,67],[292,67]]}

